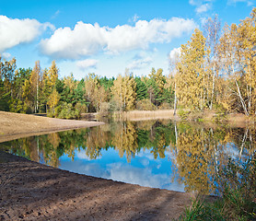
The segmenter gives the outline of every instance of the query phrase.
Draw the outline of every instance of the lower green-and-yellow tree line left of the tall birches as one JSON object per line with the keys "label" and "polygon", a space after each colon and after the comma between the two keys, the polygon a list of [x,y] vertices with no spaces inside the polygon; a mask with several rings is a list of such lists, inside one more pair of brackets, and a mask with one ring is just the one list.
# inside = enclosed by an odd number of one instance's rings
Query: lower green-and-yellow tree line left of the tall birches
{"label": "lower green-and-yellow tree line left of the tall birches", "polygon": [[88,74],[76,80],[73,74],[59,77],[55,61],[41,69],[17,68],[16,59],[0,60],[0,110],[47,113],[60,118],[79,118],[82,112],[131,111],[171,108],[173,93],[163,70],[152,68],[148,77],[108,78]]}

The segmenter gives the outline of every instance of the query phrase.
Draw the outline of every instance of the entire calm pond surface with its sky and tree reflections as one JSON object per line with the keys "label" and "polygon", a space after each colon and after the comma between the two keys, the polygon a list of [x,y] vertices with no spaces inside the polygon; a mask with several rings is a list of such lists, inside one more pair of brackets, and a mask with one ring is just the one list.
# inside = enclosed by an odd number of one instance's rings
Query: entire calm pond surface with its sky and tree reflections
{"label": "entire calm pond surface with its sky and tree reflections", "polygon": [[112,122],[99,127],[31,136],[0,149],[60,169],[181,192],[215,192],[228,158],[255,151],[255,130],[204,128],[169,121]]}

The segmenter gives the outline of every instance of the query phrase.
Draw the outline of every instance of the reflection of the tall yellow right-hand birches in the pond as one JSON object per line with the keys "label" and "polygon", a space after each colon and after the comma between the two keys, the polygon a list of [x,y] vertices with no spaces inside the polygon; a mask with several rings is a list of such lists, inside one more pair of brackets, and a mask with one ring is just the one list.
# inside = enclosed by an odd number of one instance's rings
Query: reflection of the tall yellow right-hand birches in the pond
{"label": "reflection of the tall yellow right-hand birches in the pond", "polygon": [[229,157],[247,158],[254,149],[249,128],[239,130],[227,128],[193,127],[178,125],[175,164],[180,182],[186,192],[215,192],[215,176],[218,168],[227,165]]}

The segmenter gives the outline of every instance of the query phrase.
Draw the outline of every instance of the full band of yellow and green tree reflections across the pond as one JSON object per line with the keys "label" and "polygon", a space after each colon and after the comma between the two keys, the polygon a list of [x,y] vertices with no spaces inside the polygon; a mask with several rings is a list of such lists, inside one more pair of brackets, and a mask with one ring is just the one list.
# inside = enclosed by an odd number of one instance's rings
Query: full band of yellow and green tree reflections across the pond
{"label": "full band of yellow and green tree reflections across the pond", "polygon": [[60,157],[72,160],[76,151],[97,159],[109,148],[130,162],[141,151],[157,158],[172,159],[186,192],[215,192],[218,168],[228,158],[243,161],[255,151],[255,128],[204,127],[184,122],[114,122],[99,127],[32,136],[0,144],[0,149],[52,167],[60,166]]}

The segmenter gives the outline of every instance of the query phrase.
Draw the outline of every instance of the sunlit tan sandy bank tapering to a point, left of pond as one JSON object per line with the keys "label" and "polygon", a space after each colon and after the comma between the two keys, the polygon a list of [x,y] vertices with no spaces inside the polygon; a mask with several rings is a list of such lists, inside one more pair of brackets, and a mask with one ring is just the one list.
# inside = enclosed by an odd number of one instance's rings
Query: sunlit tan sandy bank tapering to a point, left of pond
{"label": "sunlit tan sandy bank tapering to a point, left of pond", "polygon": [[21,137],[99,126],[103,122],[86,122],[0,111],[0,142]]}

